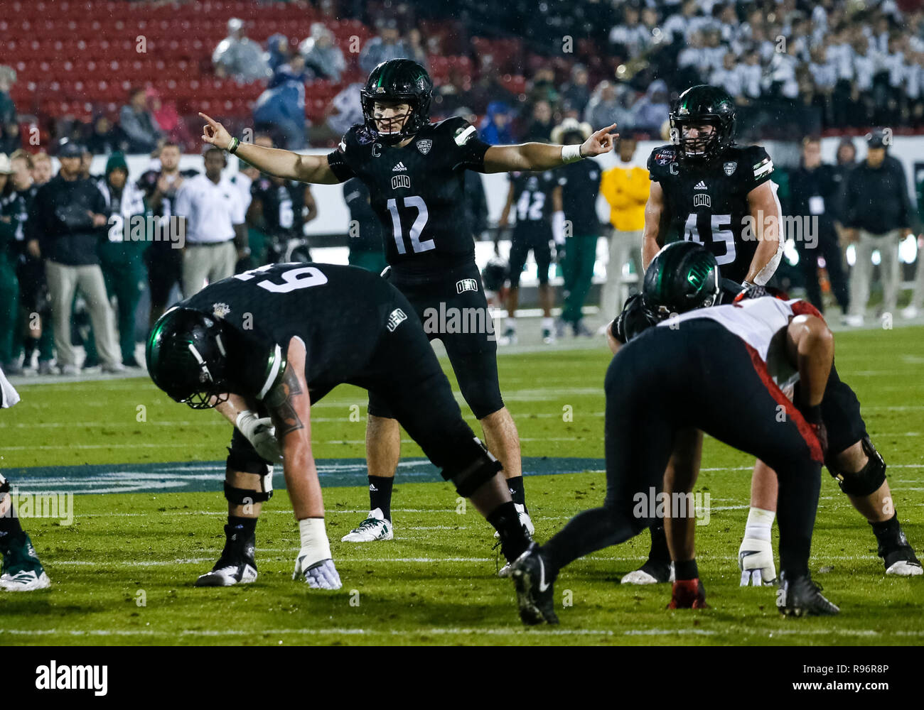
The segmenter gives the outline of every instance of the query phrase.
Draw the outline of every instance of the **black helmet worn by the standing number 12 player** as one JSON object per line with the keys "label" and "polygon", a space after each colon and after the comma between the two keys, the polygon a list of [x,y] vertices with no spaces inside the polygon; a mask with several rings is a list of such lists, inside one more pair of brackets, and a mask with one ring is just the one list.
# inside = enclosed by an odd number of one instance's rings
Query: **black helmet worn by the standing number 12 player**
{"label": "black helmet worn by the standing number 12 player", "polygon": [[[412,59],[389,59],[372,69],[360,91],[366,130],[372,138],[386,144],[400,143],[430,123],[433,81],[427,70]],[[410,115],[395,133],[380,133],[372,107],[377,101],[410,105]]]}

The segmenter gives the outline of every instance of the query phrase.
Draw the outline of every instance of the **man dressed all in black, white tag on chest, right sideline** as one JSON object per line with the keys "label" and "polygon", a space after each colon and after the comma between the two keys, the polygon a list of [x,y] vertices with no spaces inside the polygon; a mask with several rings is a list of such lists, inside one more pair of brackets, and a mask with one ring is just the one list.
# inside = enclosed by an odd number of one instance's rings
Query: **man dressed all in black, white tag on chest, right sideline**
{"label": "man dressed all in black, white tag on chest, right sideline", "polygon": [[[841,187],[835,179],[836,174],[833,165],[821,163],[821,140],[805,138],[802,141],[802,162],[789,175],[792,214],[799,219],[802,233],[790,236],[796,239],[799,267],[805,277],[808,300],[814,307],[824,311],[818,280],[821,257],[828,271],[834,297],[846,315],[847,275],[834,227],[835,214],[831,211]],[[808,238],[809,235],[811,238]]]}

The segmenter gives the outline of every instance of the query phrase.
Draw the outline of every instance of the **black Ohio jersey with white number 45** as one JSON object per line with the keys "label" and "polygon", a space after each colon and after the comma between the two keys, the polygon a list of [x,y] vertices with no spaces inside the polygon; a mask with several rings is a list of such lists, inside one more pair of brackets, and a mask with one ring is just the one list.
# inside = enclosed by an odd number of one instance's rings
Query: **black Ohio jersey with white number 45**
{"label": "black Ohio jersey with white number 45", "polygon": [[651,151],[648,172],[660,183],[669,219],[663,241],[699,242],[708,248],[724,278],[742,282],[757,250],[748,193],[771,179],[773,162],[760,146],[730,146],[711,162],[677,158],[673,145]]}

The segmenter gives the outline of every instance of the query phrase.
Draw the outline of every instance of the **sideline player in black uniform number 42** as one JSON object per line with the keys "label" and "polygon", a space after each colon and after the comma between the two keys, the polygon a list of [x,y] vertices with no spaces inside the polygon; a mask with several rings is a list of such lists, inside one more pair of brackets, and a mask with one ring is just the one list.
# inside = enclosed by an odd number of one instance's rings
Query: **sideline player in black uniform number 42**
{"label": "sideline player in black uniform number 42", "polygon": [[[553,343],[552,307],[555,295],[549,285],[549,267],[552,266],[554,236],[558,236],[563,244],[565,241],[562,179],[549,170],[544,173],[511,173],[507,201],[497,223],[499,229],[507,226],[511,208],[516,212],[517,223],[510,239],[510,258],[507,259],[510,264],[510,290],[507,292],[507,322],[501,343],[517,343],[519,280],[530,250],[539,274],[542,342]],[[553,220],[556,221],[557,235],[553,234]]]}

